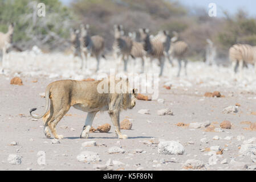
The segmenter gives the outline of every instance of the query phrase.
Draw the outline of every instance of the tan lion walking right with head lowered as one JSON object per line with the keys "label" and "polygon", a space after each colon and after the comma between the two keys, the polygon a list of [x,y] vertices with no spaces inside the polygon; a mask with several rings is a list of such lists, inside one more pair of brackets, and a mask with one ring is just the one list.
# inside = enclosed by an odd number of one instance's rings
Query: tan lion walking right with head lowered
{"label": "tan lion walking right with head lowered", "polygon": [[[99,93],[97,88],[102,81],[107,82],[107,93]],[[121,81],[121,84],[120,84]],[[56,139],[62,139],[63,135],[56,133],[56,125],[67,113],[71,106],[76,109],[88,112],[86,123],[83,127],[80,138],[88,138],[92,121],[98,111],[108,111],[109,117],[115,126],[115,133],[120,139],[127,139],[127,135],[121,134],[119,124],[119,114],[121,110],[132,109],[136,104],[137,89],[128,90],[129,83],[127,78],[121,78],[115,84],[124,86],[122,92],[110,92],[111,82],[108,78],[99,81],[76,81],[76,80],[59,80],[52,82],[46,87],[45,98],[46,105],[42,115],[36,116],[32,114],[36,108],[30,110],[32,118],[39,119],[43,117],[44,135],[51,137],[51,133]],[[102,86],[101,86],[102,88]],[[50,101],[50,102],[49,102]],[[50,105],[50,110],[49,110]]]}

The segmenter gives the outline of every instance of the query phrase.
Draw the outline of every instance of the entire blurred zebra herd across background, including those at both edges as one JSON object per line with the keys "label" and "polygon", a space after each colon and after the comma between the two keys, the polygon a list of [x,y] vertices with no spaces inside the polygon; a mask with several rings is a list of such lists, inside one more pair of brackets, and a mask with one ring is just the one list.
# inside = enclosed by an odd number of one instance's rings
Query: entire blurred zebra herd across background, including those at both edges
{"label": "entire blurred zebra herd across background, including those at both edges", "polygon": [[[178,40],[178,33],[173,32],[173,37],[170,38],[168,31],[159,31],[157,35],[153,36],[147,28],[140,28],[137,32],[129,32],[128,36],[124,35],[124,28],[122,25],[115,25],[114,29],[114,43],[113,43],[113,57],[121,56],[124,63],[124,71],[127,71],[127,63],[129,57],[132,59],[141,59],[141,73],[144,72],[145,58],[148,57],[151,61],[159,60],[160,73],[164,69],[165,59],[173,66],[172,59],[178,60],[178,73],[180,76],[181,62],[184,61],[184,68],[186,74],[186,65],[188,64],[187,53],[188,44],[184,41]],[[2,50],[2,72],[5,67],[6,52],[11,47],[16,47],[13,44],[14,24],[11,23],[6,33],[0,32],[0,50]],[[99,35],[91,36],[90,26],[86,24],[80,25],[79,30],[72,30],[70,35],[72,44],[72,51],[75,56],[82,58],[81,69],[87,68],[88,54],[95,56],[97,60],[96,72],[99,71],[100,57],[105,59],[104,45],[105,40]],[[211,40],[207,40],[208,47],[206,47],[206,55],[209,58],[206,62],[212,64],[216,48],[213,46]],[[249,44],[235,44],[229,49],[229,60],[234,73],[242,73],[242,68],[247,64],[254,64],[256,72],[256,46]],[[117,65],[117,64],[116,64]]]}

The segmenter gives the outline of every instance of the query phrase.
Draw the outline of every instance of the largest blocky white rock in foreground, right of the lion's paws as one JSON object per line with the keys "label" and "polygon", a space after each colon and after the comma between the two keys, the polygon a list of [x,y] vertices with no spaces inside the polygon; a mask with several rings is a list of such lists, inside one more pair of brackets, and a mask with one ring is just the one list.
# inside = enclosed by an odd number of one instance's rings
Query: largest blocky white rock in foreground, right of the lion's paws
{"label": "largest blocky white rock in foreground, right of the lion's paws", "polygon": [[176,141],[164,141],[160,142],[158,145],[158,152],[159,154],[165,155],[182,155],[184,154],[184,147],[182,144]]}

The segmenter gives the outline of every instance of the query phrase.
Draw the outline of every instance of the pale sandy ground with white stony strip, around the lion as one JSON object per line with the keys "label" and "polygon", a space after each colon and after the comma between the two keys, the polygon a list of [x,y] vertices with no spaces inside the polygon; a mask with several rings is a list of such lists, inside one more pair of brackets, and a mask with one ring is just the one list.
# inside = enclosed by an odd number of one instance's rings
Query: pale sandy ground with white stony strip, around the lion
{"label": "pale sandy ground with white stony strip, around the lion", "polygon": [[[247,170],[239,164],[255,166],[250,155],[239,154],[239,147],[243,140],[255,137],[255,131],[245,130],[250,125],[242,124],[243,121],[255,122],[255,73],[253,68],[245,71],[243,78],[235,79],[231,76],[230,68],[209,67],[204,63],[190,63],[188,76],[182,72],[181,78],[176,78],[177,63],[174,68],[166,64],[164,76],[160,79],[159,98],[165,100],[164,104],[153,101],[137,101],[132,110],[123,111],[120,121],[131,118],[132,130],[122,130],[128,135],[127,140],[117,139],[113,127],[109,133],[90,133],[89,139],[80,139],[87,113],[76,110],[73,107],[57,126],[58,134],[64,135],[60,143],[52,144],[43,134],[42,119],[33,121],[29,115],[29,109],[38,107],[36,113],[42,113],[44,109],[43,93],[46,86],[55,80],[66,78],[82,79],[96,77],[93,73],[95,59],[90,59],[91,72],[82,74],[76,71],[79,61],[73,61],[72,56],[44,55],[43,53],[10,53],[9,65],[5,74],[0,75],[0,169],[1,170],[94,170],[96,164],[105,164],[108,159],[118,160],[123,165],[113,166],[114,170],[181,170],[182,165],[188,159],[200,160],[206,170]],[[109,61],[109,62],[108,62]],[[139,62],[139,60],[137,60]],[[139,62],[140,63],[140,62]],[[70,64],[70,65],[69,65]],[[108,72],[115,61],[102,60],[101,68]],[[151,72],[158,72],[159,68],[154,63]],[[131,67],[129,68],[131,70]],[[133,71],[140,69],[137,64]],[[78,70],[78,69],[77,69]],[[102,69],[100,72],[104,72]],[[10,85],[14,76],[22,78],[23,85]],[[34,82],[37,80],[37,82]],[[163,88],[166,82],[172,84],[172,89]],[[204,97],[205,92],[220,91],[225,97]],[[227,106],[239,103],[238,113],[224,114]],[[169,108],[174,115],[157,115],[157,110]],[[150,114],[139,114],[140,109],[148,109]],[[192,122],[210,121],[216,128],[222,121],[230,121],[230,130],[223,132],[205,131],[205,128],[191,129],[190,127],[178,127],[177,123],[189,124]],[[107,113],[98,113],[93,126],[96,128],[104,123],[112,123]],[[213,140],[214,136],[219,140]],[[237,136],[245,139],[237,140]],[[233,137],[230,140],[225,137]],[[202,143],[201,139],[207,138],[209,143]],[[157,150],[157,144],[148,145],[143,142],[155,140],[156,143],[163,140],[178,141],[185,148],[183,155],[161,155]],[[17,146],[11,146],[11,142],[18,142]],[[97,146],[82,147],[83,142],[96,141]],[[189,144],[192,141],[194,144]],[[191,142],[190,142],[191,143]],[[124,154],[108,154],[108,149],[113,146],[121,146]],[[208,148],[220,146],[224,149],[222,155],[217,155],[217,163],[211,165]],[[139,148],[142,153],[135,150]],[[205,150],[206,148],[206,150]],[[39,165],[37,155],[39,151],[46,153],[46,164]],[[83,163],[76,159],[82,151],[93,151],[99,154],[100,162]],[[10,154],[22,157],[21,164],[9,164],[7,158]],[[227,159],[226,164],[221,164]],[[231,163],[231,160],[239,164]],[[165,161],[165,162],[164,162]]]}

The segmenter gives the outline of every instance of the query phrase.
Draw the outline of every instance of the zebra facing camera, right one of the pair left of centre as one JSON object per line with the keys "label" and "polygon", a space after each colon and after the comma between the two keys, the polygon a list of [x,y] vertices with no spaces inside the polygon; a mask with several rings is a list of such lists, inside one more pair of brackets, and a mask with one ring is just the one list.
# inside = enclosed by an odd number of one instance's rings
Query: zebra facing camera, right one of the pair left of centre
{"label": "zebra facing camera, right one of the pair left of centre", "polygon": [[81,28],[80,51],[81,51],[82,60],[83,60],[82,69],[84,69],[84,67],[87,68],[87,55],[88,53],[90,53],[92,56],[96,57],[96,60],[97,60],[96,72],[97,72],[99,71],[100,57],[103,56],[104,44],[105,44],[104,38],[99,35],[90,36],[89,34],[90,26],[88,24],[86,24],[86,26],[81,24],[80,28]]}

